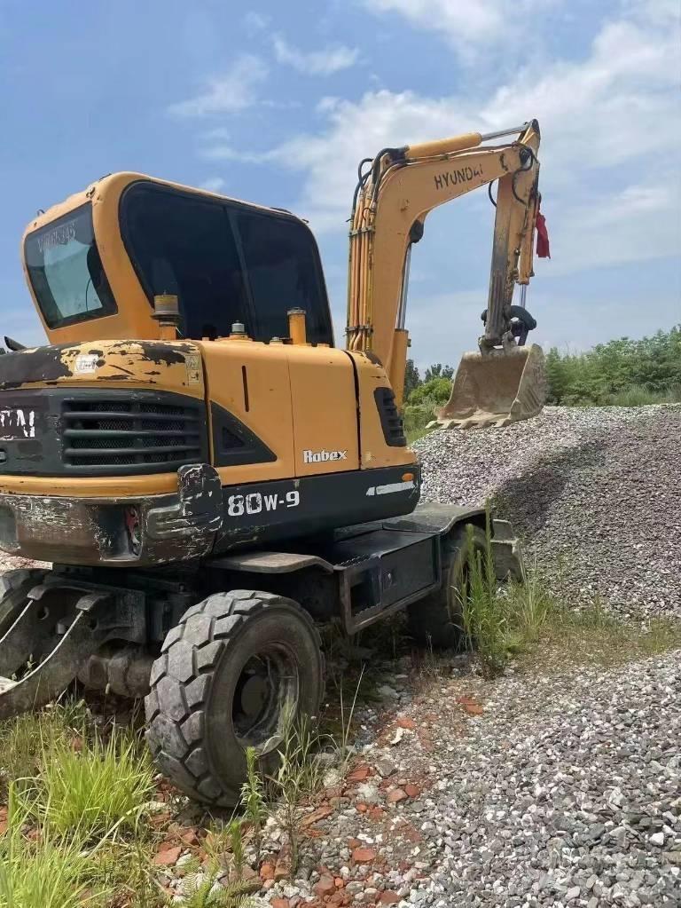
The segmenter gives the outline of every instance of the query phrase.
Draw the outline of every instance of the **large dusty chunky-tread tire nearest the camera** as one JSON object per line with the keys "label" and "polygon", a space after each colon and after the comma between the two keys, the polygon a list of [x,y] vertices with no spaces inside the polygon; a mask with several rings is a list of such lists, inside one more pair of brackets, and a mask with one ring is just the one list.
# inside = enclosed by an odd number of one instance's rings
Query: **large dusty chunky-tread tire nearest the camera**
{"label": "large dusty chunky-tread tire nearest the camera", "polygon": [[145,699],[161,772],[197,801],[237,804],[247,745],[258,748],[266,773],[276,768],[284,702],[298,715],[317,714],[320,646],[312,618],[292,599],[237,589],[191,607],[165,638]]}

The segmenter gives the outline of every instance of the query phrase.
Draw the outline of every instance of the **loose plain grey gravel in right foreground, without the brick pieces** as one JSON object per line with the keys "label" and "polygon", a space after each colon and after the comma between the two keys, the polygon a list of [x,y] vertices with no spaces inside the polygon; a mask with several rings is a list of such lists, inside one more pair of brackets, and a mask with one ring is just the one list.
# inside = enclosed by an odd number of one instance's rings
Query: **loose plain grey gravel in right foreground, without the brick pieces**
{"label": "loose plain grey gravel in right foreground, without the brick pieces", "polygon": [[442,767],[412,902],[681,904],[681,653],[570,680],[495,686]]}

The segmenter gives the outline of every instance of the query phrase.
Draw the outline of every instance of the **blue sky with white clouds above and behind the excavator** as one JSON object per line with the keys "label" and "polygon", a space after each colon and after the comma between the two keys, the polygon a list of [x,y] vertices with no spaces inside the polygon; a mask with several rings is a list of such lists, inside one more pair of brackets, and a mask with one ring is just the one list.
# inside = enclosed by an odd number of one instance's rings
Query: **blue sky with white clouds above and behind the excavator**
{"label": "blue sky with white clouds above and behind the excavator", "polygon": [[[681,321],[678,0],[0,0],[0,333],[42,341],[24,225],[136,170],[309,219],[336,326],[356,164],[384,145],[542,127],[550,262],[536,340],[582,349]],[[413,357],[472,349],[493,212],[433,212],[413,254]],[[342,335],[336,340],[342,342]]]}

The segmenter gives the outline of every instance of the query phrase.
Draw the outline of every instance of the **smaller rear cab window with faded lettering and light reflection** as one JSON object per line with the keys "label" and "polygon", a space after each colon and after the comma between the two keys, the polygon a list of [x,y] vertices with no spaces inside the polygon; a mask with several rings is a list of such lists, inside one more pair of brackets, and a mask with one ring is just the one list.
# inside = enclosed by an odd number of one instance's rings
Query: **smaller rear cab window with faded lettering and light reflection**
{"label": "smaller rear cab window with faded lettering and light reflection", "polygon": [[94,241],[90,202],[29,233],[24,259],[49,328],[99,319],[116,311]]}

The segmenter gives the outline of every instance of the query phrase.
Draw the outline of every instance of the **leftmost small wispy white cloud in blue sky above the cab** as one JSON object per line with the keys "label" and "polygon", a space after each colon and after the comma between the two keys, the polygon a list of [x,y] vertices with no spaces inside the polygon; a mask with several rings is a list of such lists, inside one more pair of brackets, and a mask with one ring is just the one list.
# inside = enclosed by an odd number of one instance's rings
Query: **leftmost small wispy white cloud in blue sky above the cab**
{"label": "leftmost small wispy white cloud in blue sky above the cab", "polygon": [[267,66],[252,54],[241,54],[229,72],[209,79],[205,91],[188,101],[171,104],[170,114],[200,117],[238,114],[256,103],[258,85],[268,77]]}

